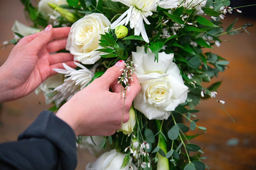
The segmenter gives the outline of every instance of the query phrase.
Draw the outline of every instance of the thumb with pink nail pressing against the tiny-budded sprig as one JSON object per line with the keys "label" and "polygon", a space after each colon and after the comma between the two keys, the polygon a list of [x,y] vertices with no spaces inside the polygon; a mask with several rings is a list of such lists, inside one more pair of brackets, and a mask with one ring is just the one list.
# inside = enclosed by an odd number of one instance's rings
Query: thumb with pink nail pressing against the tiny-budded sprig
{"label": "thumb with pink nail pressing against the tiny-budded sprig", "polygon": [[110,67],[101,77],[101,82],[106,85],[108,88],[114,82],[117,81],[118,77],[120,77],[123,73],[123,69],[125,67],[124,60],[120,60],[116,62],[113,67]]}

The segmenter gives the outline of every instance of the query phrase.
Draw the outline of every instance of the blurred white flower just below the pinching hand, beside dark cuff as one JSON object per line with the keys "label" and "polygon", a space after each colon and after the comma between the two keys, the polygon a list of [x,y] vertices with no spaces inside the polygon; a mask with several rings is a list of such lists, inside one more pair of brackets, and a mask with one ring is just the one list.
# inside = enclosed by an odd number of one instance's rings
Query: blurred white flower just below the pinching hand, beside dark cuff
{"label": "blurred white flower just below the pinching hand, beside dark cuff", "polygon": [[[103,149],[99,148],[100,142],[103,139],[103,136],[82,136],[82,141],[80,143],[80,148],[87,149],[93,156],[98,158],[102,153],[106,152]],[[95,144],[92,142],[96,144]]]}

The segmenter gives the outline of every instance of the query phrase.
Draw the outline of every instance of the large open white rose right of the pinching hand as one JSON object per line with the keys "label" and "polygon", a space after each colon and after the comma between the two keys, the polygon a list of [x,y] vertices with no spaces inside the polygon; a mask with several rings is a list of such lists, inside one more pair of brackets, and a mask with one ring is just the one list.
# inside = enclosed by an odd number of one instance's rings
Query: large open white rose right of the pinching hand
{"label": "large open white rose right of the pinching hand", "polygon": [[184,85],[180,69],[172,62],[173,54],[159,53],[158,63],[152,52],[145,53],[144,47],[132,52],[132,61],[138,67],[135,73],[141,91],[134,99],[134,108],[148,119],[168,119],[170,111],[184,103],[188,87]]}

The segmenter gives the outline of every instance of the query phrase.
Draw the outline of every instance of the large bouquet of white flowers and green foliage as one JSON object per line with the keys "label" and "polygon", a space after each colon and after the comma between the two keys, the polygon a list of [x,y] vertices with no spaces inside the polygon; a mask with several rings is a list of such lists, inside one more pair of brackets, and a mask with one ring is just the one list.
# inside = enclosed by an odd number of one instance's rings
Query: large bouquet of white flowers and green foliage
{"label": "large bouquet of white flowers and green foliage", "polygon": [[[54,104],[50,110],[57,111],[119,60],[125,61],[118,81],[124,102],[132,74],[138,77],[141,91],[128,122],[112,136],[77,137],[77,147],[98,157],[86,170],[209,169],[201,147],[189,142],[206,133],[194,107],[202,98],[213,98],[228,114],[216,97],[221,82],[202,86],[225,71],[228,61],[202,48],[220,47],[221,35],[253,26],[235,29],[236,19],[222,28],[225,14],[241,13],[239,7],[229,7],[229,0],[40,0],[37,7],[21,2],[34,26],[16,21],[15,37],[4,46],[48,24],[71,26],[66,50],[60,52],[74,55],[77,68],[63,63],[65,69],[54,69],[58,74],[36,89],[44,92],[46,104]],[[186,135],[195,129],[201,133]]]}

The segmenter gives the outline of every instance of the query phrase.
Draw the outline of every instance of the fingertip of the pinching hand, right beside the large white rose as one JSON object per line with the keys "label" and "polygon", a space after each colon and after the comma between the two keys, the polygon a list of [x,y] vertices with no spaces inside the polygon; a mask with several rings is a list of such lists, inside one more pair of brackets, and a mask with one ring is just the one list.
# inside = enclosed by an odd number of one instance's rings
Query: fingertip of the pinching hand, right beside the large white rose
{"label": "fingertip of the pinching hand, right beside the large white rose", "polygon": [[129,83],[131,84],[130,90],[126,91],[126,98],[128,98],[130,100],[133,100],[137,96],[137,94],[140,92],[140,89],[141,89],[140,83],[138,81],[136,74],[133,73],[132,77],[133,77],[132,78],[133,81],[131,79],[129,80],[130,81]]}

